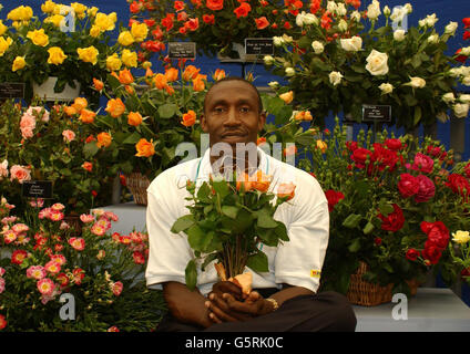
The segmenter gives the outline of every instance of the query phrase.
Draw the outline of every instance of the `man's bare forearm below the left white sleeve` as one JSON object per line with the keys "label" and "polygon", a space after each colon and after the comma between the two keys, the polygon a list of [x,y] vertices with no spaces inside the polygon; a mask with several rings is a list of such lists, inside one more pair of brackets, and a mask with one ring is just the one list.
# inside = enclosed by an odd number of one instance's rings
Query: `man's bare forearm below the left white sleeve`
{"label": "man's bare forearm below the left white sleeve", "polygon": [[184,323],[192,323],[208,327],[214,324],[208,317],[206,299],[200,291],[191,291],[185,284],[166,282],[163,284],[163,295],[172,315]]}

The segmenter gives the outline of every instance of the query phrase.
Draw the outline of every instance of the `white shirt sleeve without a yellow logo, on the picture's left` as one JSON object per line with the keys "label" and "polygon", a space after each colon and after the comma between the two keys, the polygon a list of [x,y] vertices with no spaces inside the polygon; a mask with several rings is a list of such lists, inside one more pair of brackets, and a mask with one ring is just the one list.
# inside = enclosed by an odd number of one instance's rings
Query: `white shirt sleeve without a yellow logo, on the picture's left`
{"label": "white shirt sleeve without a yellow logo, on the picture's left", "polygon": [[147,191],[149,262],[145,279],[151,289],[162,289],[162,283],[167,281],[185,283],[185,269],[193,258],[184,233],[171,231],[180,217],[177,206],[172,205],[178,196],[171,191],[171,188],[164,195],[156,188]]}

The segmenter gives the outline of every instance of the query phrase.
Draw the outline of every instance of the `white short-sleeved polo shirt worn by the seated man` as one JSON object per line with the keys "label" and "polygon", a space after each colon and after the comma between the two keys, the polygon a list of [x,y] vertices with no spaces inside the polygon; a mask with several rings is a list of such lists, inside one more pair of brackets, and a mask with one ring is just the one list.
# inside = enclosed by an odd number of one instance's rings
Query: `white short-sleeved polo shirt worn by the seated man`
{"label": "white short-sleeved polo shirt worn by the seated man", "polygon": [[[328,246],[328,204],[317,179],[306,171],[282,163],[258,148],[258,167],[273,176],[273,191],[280,183],[296,185],[295,197],[280,205],[274,218],[286,225],[289,241],[278,247],[259,243],[268,258],[268,272],[253,273],[253,288],[278,288],[282,283],[304,287],[314,292],[319,285],[320,270]],[[184,232],[171,232],[175,220],[190,214],[185,200],[190,197],[186,180],[208,180],[212,171],[210,149],[202,158],[174,166],[160,174],[147,188],[146,228],[150,238],[149,263],[145,272],[146,284],[162,289],[162,283],[177,281],[185,283],[185,268],[194,258]],[[215,261],[214,261],[215,262]],[[213,263],[214,263],[213,262]],[[206,295],[212,285],[219,281],[213,263],[204,272],[198,267],[197,288]]]}

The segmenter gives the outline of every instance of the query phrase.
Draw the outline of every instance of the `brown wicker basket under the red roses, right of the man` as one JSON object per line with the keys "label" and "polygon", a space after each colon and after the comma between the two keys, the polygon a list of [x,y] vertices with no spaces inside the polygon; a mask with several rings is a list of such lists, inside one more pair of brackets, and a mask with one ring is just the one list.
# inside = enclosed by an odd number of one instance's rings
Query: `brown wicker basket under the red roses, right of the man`
{"label": "brown wicker basket under the red roses, right of the man", "polygon": [[[376,306],[381,303],[390,302],[394,284],[380,287],[379,284],[368,283],[362,280],[362,274],[368,270],[368,266],[360,262],[356,274],[351,274],[347,298],[350,303],[362,306]],[[411,290],[411,295],[416,295],[418,282],[416,280],[407,281]]]}

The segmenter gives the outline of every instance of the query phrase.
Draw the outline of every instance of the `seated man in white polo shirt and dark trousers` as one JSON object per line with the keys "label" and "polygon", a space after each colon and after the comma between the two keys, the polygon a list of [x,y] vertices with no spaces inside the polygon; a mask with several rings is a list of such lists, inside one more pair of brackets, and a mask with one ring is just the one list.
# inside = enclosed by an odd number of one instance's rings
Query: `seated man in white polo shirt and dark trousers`
{"label": "seated man in white polo shirt and dark trousers", "polygon": [[[216,82],[206,94],[201,116],[211,148],[202,158],[165,170],[149,187],[146,282],[150,288],[163,288],[170,310],[157,331],[355,330],[356,317],[345,296],[334,292],[316,294],[329,232],[325,195],[309,174],[256,148],[257,134],[265,121],[259,93],[252,83],[239,77]],[[286,225],[289,241],[278,247],[259,246],[268,257],[269,272],[253,272],[255,291],[245,301],[241,289],[219,281],[212,266],[198,274],[197,289],[190,291],[185,285],[185,267],[193,253],[184,233],[170,231],[178,217],[188,214],[185,180],[207,180],[214,168],[223,171],[227,167],[217,165],[221,159],[214,152],[219,145],[255,146],[254,159],[242,155],[242,169],[255,167],[274,180],[296,186],[295,197],[275,215]],[[247,149],[248,157],[251,150]],[[228,167],[239,168],[239,156],[233,150]]]}

